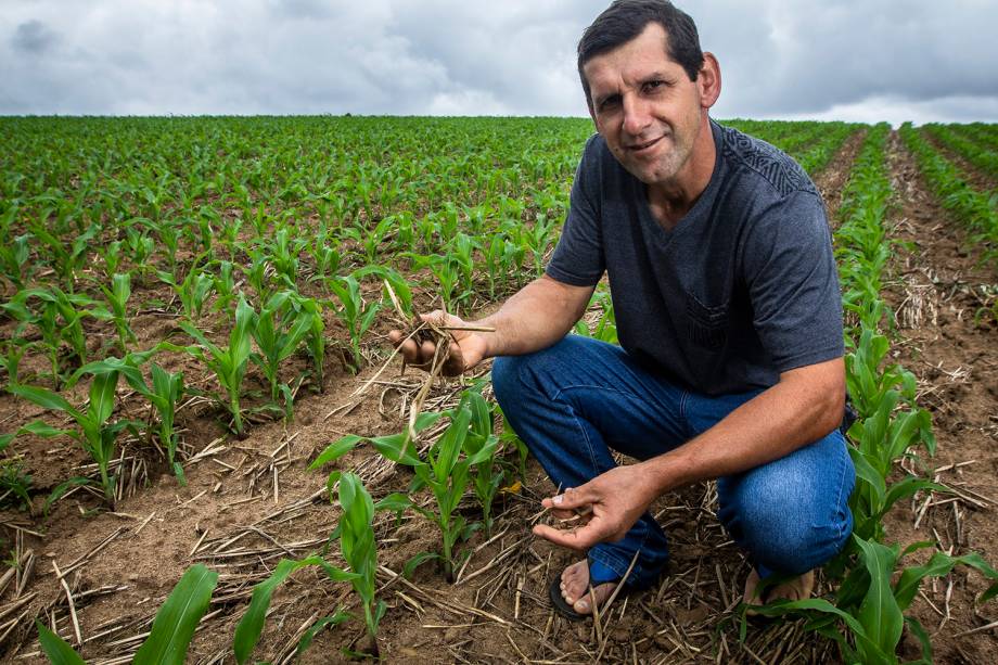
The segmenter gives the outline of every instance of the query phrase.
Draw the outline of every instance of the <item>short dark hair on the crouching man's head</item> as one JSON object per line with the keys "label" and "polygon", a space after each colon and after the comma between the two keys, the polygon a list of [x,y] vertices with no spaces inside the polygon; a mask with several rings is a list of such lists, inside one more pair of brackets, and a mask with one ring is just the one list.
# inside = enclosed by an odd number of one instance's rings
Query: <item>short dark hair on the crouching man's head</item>
{"label": "short dark hair on the crouching man's head", "polygon": [[627,43],[650,23],[657,23],[665,28],[666,55],[682,66],[690,80],[696,80],[703,67],[703,51],[700,49],[696,24],[689,14],[668,0],[615,0],[586,28],[578,42],[578,76],[586,92],[586,102],[590,106],[592,95],[583,67],[597,55]]}

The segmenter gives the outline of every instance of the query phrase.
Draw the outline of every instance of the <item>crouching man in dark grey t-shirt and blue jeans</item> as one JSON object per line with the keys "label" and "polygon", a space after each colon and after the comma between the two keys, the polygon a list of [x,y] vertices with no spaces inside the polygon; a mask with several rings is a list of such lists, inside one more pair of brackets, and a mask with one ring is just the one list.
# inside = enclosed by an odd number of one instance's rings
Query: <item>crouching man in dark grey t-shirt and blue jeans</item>
{"label": "crouching man in dark grey t-shirt and blue jeans", "polygon": [[[820,195],[786,155],[709,119],[717,60],[670,3],[614,2],[578,68],[599,133],[547,273],[479,322],[494,333],[456,332],[450,369],[497,357],[500,406],[564,488],[543,504],[579,526],[534,529],[587,552],[552,585],[564,614],[591,613],[625,575],[653,584],[668,551],[648,507],[708,478],[753,564],[746,602],[805,598],[852,532],[855,479]],[[565,336],[604,271],[620,347]],[[401,350],[420,363],[434,348]],[[617,466],[611,449],[642,461]]]}

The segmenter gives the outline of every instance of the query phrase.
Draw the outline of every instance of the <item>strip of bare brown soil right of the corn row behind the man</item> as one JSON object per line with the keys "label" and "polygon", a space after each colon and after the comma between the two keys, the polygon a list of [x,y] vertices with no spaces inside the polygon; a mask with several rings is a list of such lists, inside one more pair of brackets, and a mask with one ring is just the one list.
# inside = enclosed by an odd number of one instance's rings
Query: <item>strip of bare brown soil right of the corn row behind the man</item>
{"label": "strip of bare brown soil right of the corn row behind the man", "polygon": [[[912,156],[896,135],[888,145],[897,193],[892,235],[907,243],[896,255],[894,280],[886,291],[898,312],[897,361],[914,372],[920,404],[933,414],[938,452],[929,461],[930,468],[967,463],[941,472],[939,479],[980,502],[960,499],[933,506],[914,529],[922,497],[910,509],[892,514],[890,534],[900,542],[935,539],[944,549],[952,547],[955,554],[976,551],[994,563],[998,551],[998,325],[988,317],[975,321],[974,314],[985,297],[982,285],[994,285],[996,276],[968,253],[960,223],[926,193]],[[994,603],[974,605],[984,588],[981,575],[965,570],[923,586],[925,597],[917,599],[914,615],[933,635],[936,662],[993,662],[998,653],[995,629],[967,635],[995,619]],[[906,655],[913,657],[914,644],[909,640],[906,647]]]}

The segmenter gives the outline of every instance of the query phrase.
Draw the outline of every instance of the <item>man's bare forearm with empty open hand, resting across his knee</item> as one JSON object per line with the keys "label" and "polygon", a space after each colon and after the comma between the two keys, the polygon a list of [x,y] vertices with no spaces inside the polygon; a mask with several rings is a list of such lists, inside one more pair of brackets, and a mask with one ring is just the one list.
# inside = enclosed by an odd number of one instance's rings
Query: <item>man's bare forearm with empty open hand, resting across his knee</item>
{"label": "man's bare forearm with empty open hand, resting across his knee", "polygon": [[572,532],[538,525],[534,533],[578,550],[619,540],[664,493],[754,469],[826,436],[842,421],[844,398],[841,358],[784,372],[777,385],[683,446],[545,499],[548,508],[591,509],[589,522]]}

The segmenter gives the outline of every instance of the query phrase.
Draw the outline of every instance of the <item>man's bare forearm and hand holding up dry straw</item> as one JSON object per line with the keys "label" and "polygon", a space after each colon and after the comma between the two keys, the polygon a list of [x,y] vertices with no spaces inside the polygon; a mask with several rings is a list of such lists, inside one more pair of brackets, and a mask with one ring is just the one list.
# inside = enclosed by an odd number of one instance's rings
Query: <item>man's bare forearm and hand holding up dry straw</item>
{"label": "man's bare forearm and hand holding up dry straw", "polygon": [[[529,354],[551,346],[564,337],[572,325],[581,318],[589,305],[594,286],[573,286],[542,276],[502,304],[499,311],[474,325],[495,328],[495,332],[452,331],[457,348],[451,347],[448,373],[470,370],[486,358]],[[468,324],[458,317],[443,311],[422,316],[425,321],[459,328]],[[389,340],[399,344],[400,331],[392,331]],[[417,345],[413,340],[401,342],[401,353],[412,365],[428,362],[435,346],[431,342]]]}

